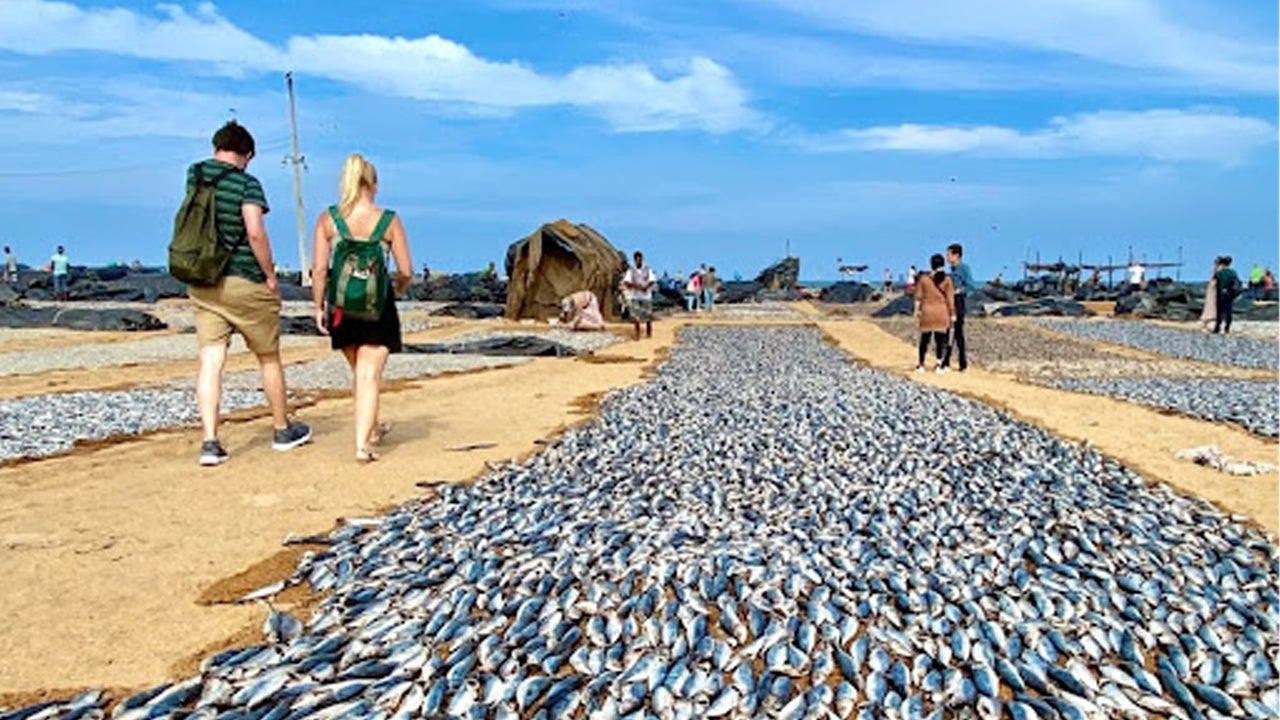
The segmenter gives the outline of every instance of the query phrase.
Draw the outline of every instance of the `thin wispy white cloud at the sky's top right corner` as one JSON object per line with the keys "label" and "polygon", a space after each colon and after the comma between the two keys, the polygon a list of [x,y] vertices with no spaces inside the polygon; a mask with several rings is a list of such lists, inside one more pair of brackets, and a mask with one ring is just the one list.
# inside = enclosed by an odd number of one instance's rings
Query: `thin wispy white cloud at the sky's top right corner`
{"label": "thin wispy white cloud at the sky's top right corner", "polygon": [[756,0],[824,29],[911,44],[1023,49],[1140,69],[1155,79],[1245,92],[1276,91],[1275,36],[1229,27],[1208,8],[1156,0]]}

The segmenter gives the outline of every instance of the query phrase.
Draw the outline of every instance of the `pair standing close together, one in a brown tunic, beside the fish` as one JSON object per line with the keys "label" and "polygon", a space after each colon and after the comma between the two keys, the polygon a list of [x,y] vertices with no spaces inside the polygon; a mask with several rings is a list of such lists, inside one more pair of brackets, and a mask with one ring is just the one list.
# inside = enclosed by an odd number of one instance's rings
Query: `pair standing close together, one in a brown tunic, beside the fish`
{"label": "pair standing close together, one in a brown tunic, beside the fish", "polygon": [[[951,272],[947,273],[947,265]],[[913,282],[914,281],[914,282]],[[920,345],[915,372],[924,372],[924,357],[933,342],[937,365],[934,373],[951,370],[951,355],[955,350],[957,369],[963,373],[969,368],[965,352],[964,316],[965,296],[977,290],[969,264],[964,261],[964,247],[960,243],[947,246],[947,255],[929,258],[929,272],[908,278],[908,292],[915,293],[915,322],[920,331]]]}

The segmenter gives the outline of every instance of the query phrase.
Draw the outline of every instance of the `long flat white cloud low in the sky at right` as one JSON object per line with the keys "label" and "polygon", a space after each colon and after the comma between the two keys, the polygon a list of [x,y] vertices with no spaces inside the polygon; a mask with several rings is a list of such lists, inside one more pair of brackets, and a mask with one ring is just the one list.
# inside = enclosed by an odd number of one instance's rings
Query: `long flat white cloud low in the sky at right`
{"label": "long flat white cloud low in the sky at right", "polygon": [[899,124],[846,128],[796,142],[818,152],[908,151],[989,158],[1132,156],[1161,161],[1247,160],[1276,141],[1276,127],[1231,113],[1105,110],[1050,120],[1021,131],[1002,126]]}

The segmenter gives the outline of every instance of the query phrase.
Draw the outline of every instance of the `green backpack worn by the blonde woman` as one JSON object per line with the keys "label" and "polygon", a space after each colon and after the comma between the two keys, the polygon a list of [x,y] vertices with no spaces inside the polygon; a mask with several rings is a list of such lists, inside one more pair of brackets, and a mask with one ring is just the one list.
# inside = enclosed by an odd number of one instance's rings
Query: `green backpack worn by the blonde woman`
{"label": "green backpack worn by the blonde woman", "polygon": [[383,210],[383,217],[378,219],[378,225],[367,241],[351,237],[351,229],[338,213],[337,205],[329,208],[329,217],[333,218],[339,236],[333,249],[333,264],[329,265],[326,291],[329,311],[335,324],[342,318],[376,320],[381,318],[387,297],[390,295],[383,234],[396,213]]}

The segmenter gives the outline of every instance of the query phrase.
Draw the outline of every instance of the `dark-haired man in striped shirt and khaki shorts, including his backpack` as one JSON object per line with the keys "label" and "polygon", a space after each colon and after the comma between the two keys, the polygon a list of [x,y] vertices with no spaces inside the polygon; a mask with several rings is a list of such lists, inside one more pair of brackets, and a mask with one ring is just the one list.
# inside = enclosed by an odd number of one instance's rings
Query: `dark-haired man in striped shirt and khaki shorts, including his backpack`
{"label": "dark-haired man in striped shirt and khaki shorts, including his backpack", "polygon": [[205,430],[200,464],[210,466],[228,459],[218,439],[218,421],[233,332],[257,356],[275,429],[271,447],[283,452],[311,439],[311,428],[288,419],[280,295],[262,224],[269,208],[262,184],[244,172],[253,159],[253,136],[232,120],[212,140],[214,156],[187,168],[187,196],[169,245],[169,272],[187,283],[195,310],[200,343],[196,400]]}

